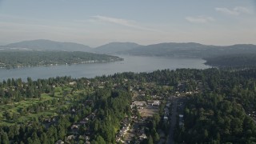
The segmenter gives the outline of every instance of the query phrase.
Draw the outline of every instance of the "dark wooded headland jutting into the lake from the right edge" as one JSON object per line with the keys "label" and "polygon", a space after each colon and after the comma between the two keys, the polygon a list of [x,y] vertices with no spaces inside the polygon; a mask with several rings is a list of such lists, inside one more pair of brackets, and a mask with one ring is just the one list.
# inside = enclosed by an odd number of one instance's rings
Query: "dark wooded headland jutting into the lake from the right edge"
{"label": "dark wooded headland jutting into the lake from the right edge", "polygon": [[230,54],[205,58],[206,65],[232,68],[248,68],[256,66],[256,54]]}

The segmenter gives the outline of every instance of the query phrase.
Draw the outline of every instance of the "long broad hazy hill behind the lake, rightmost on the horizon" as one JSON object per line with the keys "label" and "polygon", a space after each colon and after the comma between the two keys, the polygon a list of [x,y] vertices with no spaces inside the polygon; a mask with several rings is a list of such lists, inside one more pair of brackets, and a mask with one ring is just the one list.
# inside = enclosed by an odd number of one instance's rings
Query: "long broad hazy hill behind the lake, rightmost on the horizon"
{"label": "long broad hazy hill behind the lake, rightmost on the horizon", "polygon": [[194,42],[168,42],[149,46],[139,46],[132,50],[126,50],[122,52],[122,54],[210,58],[226,54],[256,54],[256,46],[250,44],[239,44],[234,46],[209,46]]}

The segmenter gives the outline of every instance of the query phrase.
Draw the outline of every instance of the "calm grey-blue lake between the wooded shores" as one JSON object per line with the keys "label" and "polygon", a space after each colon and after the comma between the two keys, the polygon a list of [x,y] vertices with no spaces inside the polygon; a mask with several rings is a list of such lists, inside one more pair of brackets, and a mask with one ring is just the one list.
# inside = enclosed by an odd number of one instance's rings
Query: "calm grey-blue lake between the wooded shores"
{"label": "calm grey-blue lake between the wooded shores", "polygon": [[22,78],[26,81],[27,77],[36,80],[38,78],[50,78],[56,76],[71,76],[72,78],[94,78],[103,74],[109,75],[120,72],[151,72],[154,70],[178,68],[206,69],[203,63],[206,62],[200,58],[163,58],[117,55],[124,58],[124,61],[106,62],[106,63],[87,63],[71,66],[37,66],[22,67],[11,70],[0,69],[0,81],[7,78]]}

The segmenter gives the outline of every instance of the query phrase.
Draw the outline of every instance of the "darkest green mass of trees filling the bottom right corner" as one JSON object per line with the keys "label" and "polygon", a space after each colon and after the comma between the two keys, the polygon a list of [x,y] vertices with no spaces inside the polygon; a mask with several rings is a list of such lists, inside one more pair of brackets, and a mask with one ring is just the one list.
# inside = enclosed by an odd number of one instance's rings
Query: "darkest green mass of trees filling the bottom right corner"
{"label": "darkest green mass of trees filling the bottom right corner", "polygon": [[[232,98],[231,98],[232,99]],[[196,94],[187,102],[184,126],[178,128],[178,142],[256,142],[255,121],[242,105],[222,94]]]}

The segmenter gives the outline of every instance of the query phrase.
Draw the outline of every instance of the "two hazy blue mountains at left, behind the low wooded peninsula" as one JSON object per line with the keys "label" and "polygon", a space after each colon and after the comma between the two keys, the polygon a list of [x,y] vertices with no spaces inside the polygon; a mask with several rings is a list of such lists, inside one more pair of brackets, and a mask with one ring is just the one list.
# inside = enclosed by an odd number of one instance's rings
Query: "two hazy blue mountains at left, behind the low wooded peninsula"
{"label": "two hazy blue mountains at left, behind the low wooded peninsula", "polygon": [[110,42],[103,46],[91,48],[90,46],[74,42],[55,42],[46,39],[22,41],[0,46],[5,50],[63,50],[63,51],[85,51],[99,54],[117,54],[118,52],[134,49],[138,47],[134,42]]}

